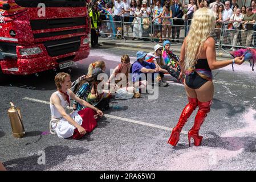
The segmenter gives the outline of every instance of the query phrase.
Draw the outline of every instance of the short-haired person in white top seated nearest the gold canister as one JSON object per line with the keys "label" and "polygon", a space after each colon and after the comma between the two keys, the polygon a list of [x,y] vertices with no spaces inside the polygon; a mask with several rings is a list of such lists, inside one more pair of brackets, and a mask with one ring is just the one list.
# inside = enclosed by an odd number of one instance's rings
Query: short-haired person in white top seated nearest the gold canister
{"label": "short-haired person in white top seated nearest the gold canister", "polygon": [[[67,73],[58,73],[55,76],[55,85],[57,91],[50,97],[51,121],[50,132],[57,134],[59,138],[79,139],[86,133],[90,133],[96,126],[97,122],[94,115],[100,117],[103,112],[88,102],[77,97],[71,90],[71,79]],[[70,99],[75,100],[86,109],[66,113],[66,108],[70,106]]]}

